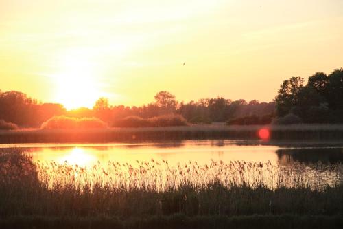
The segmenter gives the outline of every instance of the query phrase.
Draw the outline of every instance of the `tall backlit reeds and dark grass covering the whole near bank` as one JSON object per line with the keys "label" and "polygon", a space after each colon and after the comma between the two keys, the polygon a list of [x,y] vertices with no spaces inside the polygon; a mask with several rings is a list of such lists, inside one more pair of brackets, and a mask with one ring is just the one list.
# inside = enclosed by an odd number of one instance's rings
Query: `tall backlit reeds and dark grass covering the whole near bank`
{"label": "tall backlit reeds and dark grass covering the whole near bank", "polygon": [[342,173],[340,162],[283,168],[215,161],[169,166],[152,159],[82,168],[35,163],[20,149],[1,149],[0,226],[342,226]]}

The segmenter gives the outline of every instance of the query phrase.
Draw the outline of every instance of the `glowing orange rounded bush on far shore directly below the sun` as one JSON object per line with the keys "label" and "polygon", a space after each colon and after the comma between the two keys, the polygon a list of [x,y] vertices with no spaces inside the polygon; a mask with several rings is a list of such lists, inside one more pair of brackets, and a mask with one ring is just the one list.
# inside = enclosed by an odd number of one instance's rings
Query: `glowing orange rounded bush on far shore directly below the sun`
{"label": "glowing orange rounded bush on far shore directly below the sun", "polygon": [[43,122],[41,129],[97,129],[106,128],[107,124],[98,118],[71,118],[54,116]]}

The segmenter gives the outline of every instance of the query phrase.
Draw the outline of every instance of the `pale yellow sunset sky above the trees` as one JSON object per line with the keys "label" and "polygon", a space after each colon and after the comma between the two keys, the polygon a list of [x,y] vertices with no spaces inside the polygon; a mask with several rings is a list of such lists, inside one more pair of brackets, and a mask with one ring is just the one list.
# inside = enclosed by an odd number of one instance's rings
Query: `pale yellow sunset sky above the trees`
{"label": "pale yellow sunset sky above the trees", "polygon": [[0,0],[1,91],[69,109],[161,90],[271,101],[342,52],[342,0]]}

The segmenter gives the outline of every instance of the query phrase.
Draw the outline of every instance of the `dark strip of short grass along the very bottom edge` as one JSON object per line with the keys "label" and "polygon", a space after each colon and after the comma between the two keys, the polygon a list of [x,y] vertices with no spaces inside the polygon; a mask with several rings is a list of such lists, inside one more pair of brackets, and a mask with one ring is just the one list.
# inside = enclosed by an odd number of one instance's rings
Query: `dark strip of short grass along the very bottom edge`
{"label": "dark strip of short grass along the very bottom edge", "polygon": [[185,215],[133,217],[40,217],[16,216],[0,219],[0,228],[342,228],[343,215],[250,215],[196,216]]}

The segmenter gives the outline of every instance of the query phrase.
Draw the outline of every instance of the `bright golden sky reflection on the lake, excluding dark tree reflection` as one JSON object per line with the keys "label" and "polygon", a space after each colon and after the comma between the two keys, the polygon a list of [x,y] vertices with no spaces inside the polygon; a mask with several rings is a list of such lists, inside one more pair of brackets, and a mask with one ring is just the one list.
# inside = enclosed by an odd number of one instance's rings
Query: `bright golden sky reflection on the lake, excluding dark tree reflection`
{"label": "bright golden sky reflection on the lake, excluding dark tree reflection", "polygon": [[[218,146],[219,145],[219,146]],[[177,165],[184,162],[196,161],[199,164],[209,163],[211,160],[224,162],[271,162],[278,164],[275,151],[277,146],[237,145],[233,142],[183,142],[182,144],[119,144],[113,146],[63,146],[31,148],[34,160],[55,161],[79,166],[92,166],[97,162],[128,162],[136,160],[150,161],[168,160]]]}

